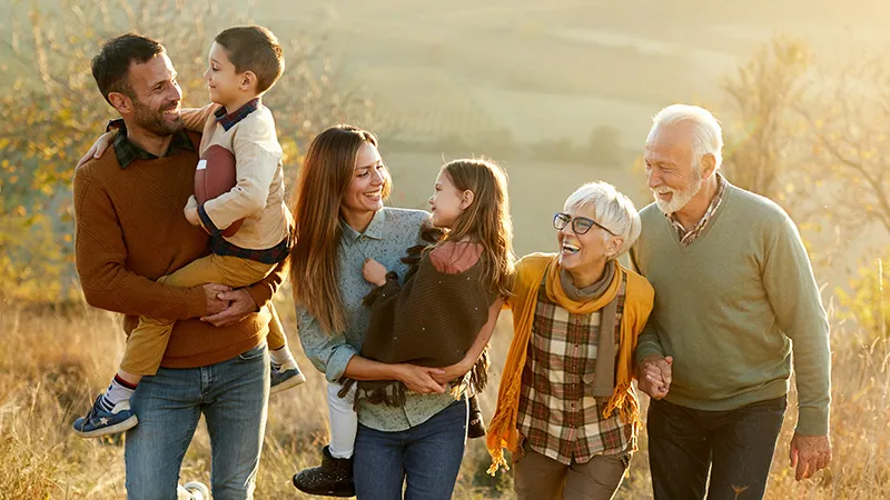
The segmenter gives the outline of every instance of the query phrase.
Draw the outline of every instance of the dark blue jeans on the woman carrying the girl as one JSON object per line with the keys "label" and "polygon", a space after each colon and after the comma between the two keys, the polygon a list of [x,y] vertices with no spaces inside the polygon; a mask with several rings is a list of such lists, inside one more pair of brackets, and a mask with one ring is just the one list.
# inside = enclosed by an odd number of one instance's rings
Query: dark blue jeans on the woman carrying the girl
{"label": "dark blue jeans on the woman carrying the girl", "polygon": [[452,498],[466,444],[466,398],[408,430],[383,432],[358,424],[353,474],[360,500]]}

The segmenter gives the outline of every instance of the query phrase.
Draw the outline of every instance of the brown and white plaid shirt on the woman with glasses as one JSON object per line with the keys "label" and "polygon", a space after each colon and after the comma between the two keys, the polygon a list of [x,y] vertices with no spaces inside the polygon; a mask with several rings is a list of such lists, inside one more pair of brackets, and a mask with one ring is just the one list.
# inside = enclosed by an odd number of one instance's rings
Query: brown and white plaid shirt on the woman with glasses
{"label": "brown and white plaid shirt on the woman with glasses", "polygon": [[[615,318],[620,341],[624,286]],[[592,394],[602,310],[573,314],[547,297],[544,283],[522,372],[517,429],[528,449],[560,463],[585,463],[596,454],[633,449],[633,426],[614,412],[603,418],[607,398]],[[585,380],[587,379],[587,380]]]}

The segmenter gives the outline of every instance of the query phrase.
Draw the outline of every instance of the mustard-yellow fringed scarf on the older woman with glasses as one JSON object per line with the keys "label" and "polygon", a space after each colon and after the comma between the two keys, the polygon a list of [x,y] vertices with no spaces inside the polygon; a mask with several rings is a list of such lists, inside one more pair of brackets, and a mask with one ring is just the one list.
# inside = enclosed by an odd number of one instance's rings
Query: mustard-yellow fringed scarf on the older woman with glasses
{"label": "mustard-yellow fringed scarf on the older woman with glasses", "polygon": [[516,263],[513,293],[505,304],[513,309],[513,341],[510,344],[507,360],[501,376],[501,387],[497,390],[497,410],[486,432],[486,444],[488,453],[492,456],[492,467],[488,468],[488,473],[492,476],[501,466],[510,469],[504,459],[504,447],[514,453],[518,447],[516,423],[522,370],[525,367],[528,340],[532,337],[532,322],[537,307],[537,290],[541,280],[544,279],[544,273],[547,273],[547,297],[575,314],[590,314],[605,307],[617,294],[622,278],[626,278],[624,313],[621,319],[615,362],[615,390],[609,399],[603,417],[607,418],[614,410],[617,410],[622,422],[633,423],[634,433],[641,426],[640,408],[631,381],[635,377],[633,353],[636,349],[636,337],[643,330],[649,313],[652,311],[655,296],[652,286],[642,276],[617,266],[612,283],[601,297],[589,302],[575,302],[565,294],[560,283],[558,258],[555,253],[525,256]]}

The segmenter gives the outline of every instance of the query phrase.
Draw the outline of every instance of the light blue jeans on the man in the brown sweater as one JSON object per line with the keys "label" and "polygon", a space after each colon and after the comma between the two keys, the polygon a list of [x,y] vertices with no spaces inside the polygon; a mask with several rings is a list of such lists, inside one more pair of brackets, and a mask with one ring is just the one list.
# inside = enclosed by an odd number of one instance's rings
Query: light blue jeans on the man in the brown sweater
{"label": "light blue jeans on the man in the brown sweater", "polygon": [[131,399],[139,424],[127,432],[127,498],[176,499],[179,468],[204,413],[214,499],[251,499],[268,398],[265,344],[209,367],[160,368],[142,378]]}

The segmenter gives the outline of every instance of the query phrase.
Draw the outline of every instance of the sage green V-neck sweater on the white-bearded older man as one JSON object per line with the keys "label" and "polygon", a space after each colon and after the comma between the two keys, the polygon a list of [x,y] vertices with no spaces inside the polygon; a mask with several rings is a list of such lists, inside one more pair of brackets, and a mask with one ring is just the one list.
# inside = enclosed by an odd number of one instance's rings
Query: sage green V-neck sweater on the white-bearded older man
{"label": "sage green V-neck sweater on the white-bearded older man", "polygon": [[794,223],[772,201],[726,186],[703,232],[682,247],[653,203],[631,258],[655,288],[636,359],[672,356],[668,401],[731,410],[788,392],[793,352],[804,436],[828,433],[829,327]]}

